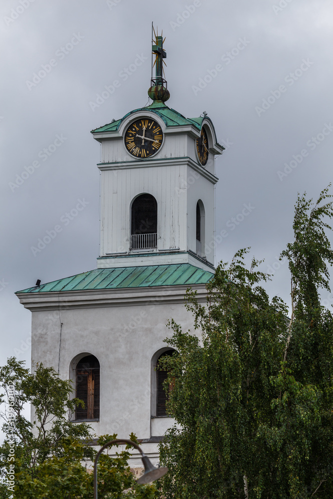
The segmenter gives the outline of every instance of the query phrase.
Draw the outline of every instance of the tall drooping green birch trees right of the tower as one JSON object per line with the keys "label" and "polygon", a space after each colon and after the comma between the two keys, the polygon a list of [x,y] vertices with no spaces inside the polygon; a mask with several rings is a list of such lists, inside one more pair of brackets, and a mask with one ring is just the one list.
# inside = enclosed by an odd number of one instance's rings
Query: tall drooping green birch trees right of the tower
{"label": "tall drooping green birch trees right of the tower", "polygon": [[[321,307],[333,253],[324,190],[296,205],[295,240],[281,257],[292,274],[292,317],[260,285],[269,276],[248,250],[220,263],[207,304],[188,290],[197,334],[171,321],[178,354],[168,412],[178,426],[160,445],[166,499],[333,497],[333,316]],[[200,340],[199,340],[200,337]],[[201,339],[202,338],[202,339]]]}

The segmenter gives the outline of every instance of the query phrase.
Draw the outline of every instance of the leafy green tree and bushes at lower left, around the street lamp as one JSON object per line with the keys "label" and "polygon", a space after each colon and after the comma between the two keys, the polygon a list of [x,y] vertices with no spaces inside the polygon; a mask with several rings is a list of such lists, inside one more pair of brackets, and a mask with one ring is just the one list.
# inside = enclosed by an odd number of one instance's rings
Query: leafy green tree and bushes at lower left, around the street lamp
{"label": "leafy green tree and bushes at lower left, around the street lamp", "polygon": [[[7,404],[1,414],[5,441],[0,447],[0,499],[92,498],[93,474],[84,462],[96,455],[94,447],[89,445],[93,435],[87,424],[72,424],[69,420],[75,406],[83,403],[70,400],[70,381],[61,380],[54,369],[42,364],[37,364],[30,373],[22,361],[12,357],[0,368],[0,387],[1,403],[5,404],[8,396],[12,396],[12,409]],[[28,402],[34,410],[33,425],[23,416],[23,407]],[[104,435],[98,444],[102,446],[114,438],[116,435]],[[135,435],[131,434],[130,439],[136,442]],[[127,465],[129,456],[127,450],[116,453],[116,458],[100,456],[99,498],[157,497],[153,485],[136,483]],[[8,489],[6,471],[10,465],[14,466],[15,485]]]}

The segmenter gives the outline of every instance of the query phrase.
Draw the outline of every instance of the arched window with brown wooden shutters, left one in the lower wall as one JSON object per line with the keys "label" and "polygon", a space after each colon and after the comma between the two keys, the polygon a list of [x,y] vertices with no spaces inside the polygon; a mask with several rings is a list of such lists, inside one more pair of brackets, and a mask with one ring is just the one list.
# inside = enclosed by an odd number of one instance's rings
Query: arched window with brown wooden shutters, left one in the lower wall
{"label": "arched window with brown wooden shutters, left one in the lower wall", "polygon": [[87,355],[76,366],[76,397],[84,402],[76,408],[76,419],[99,419],[99,362]]}

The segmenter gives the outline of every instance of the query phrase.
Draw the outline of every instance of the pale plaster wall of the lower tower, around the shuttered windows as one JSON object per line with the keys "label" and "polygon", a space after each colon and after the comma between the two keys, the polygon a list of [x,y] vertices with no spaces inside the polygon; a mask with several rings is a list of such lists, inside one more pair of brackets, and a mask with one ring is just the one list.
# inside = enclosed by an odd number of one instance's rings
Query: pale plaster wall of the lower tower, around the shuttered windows
{"label": "pale plaster wall of the lower tower, around the shuttered windows", "polygon": [[193,330],[192,316],[181,303],[152,300],[145,305],[33,311],[32,360],[56,371],[59,366],[61,378],[70,379],[80,354],[95,355],[100,363],[100,420],[89,424],[96,434],[160,436],[172,420],[152,418],[152,359],[166,348],[163,340],[172,334],[166,326],[171,317]]}

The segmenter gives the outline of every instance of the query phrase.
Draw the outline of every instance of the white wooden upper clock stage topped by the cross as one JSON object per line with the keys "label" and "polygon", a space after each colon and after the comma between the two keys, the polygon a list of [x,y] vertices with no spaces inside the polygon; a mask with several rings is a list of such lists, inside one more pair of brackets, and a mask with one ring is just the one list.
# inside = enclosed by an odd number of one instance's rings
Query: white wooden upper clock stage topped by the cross
{"label": "white wooden upper clock stage topped by the cross", "polygon": [[[153,103],[92,130],[101,143],[98,268],[168,263],[214,266],[215,156],[223,147],[206,113],[186,119],[164,103],[162,37],[153,46]],[[155,146],[155,147],[154,147]]]}

